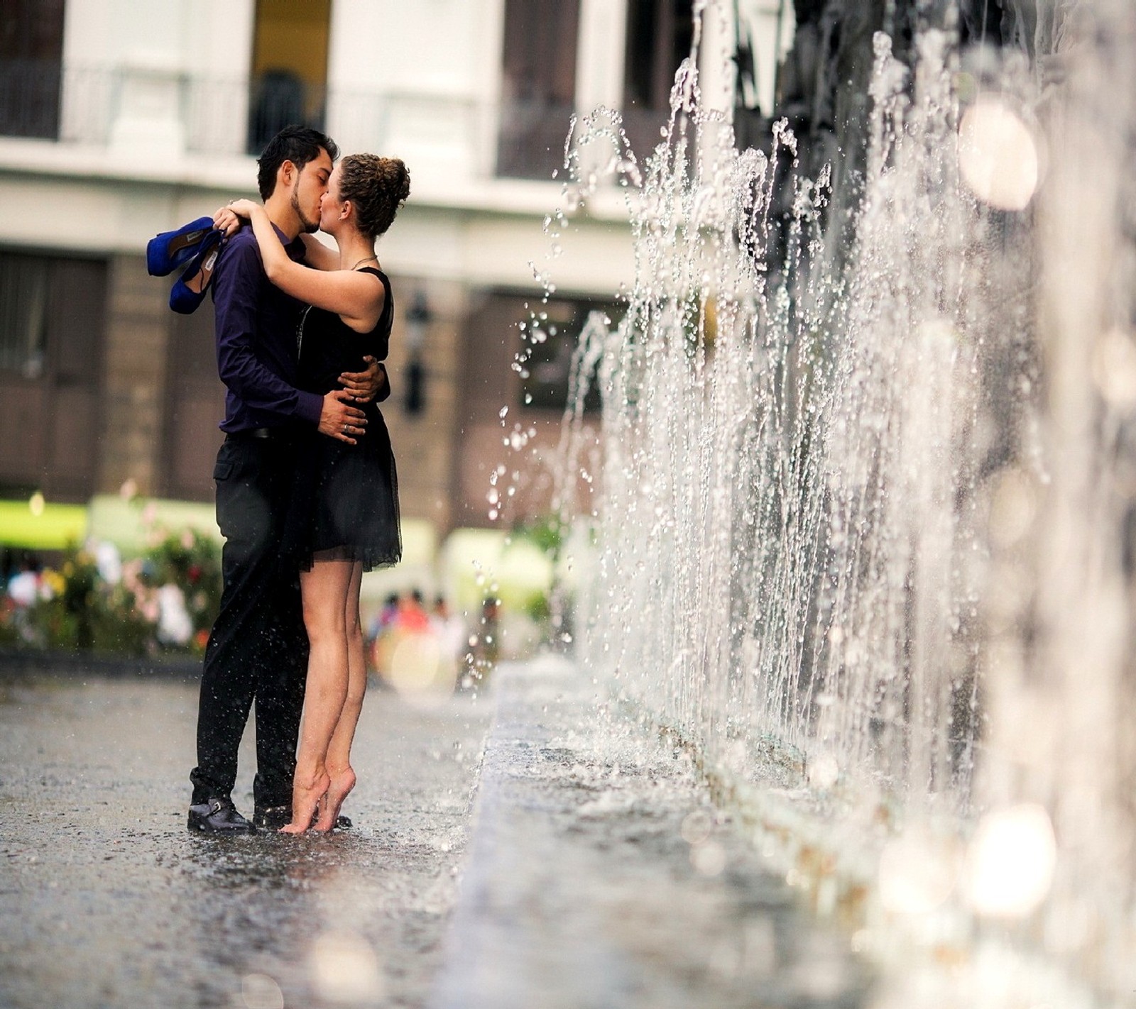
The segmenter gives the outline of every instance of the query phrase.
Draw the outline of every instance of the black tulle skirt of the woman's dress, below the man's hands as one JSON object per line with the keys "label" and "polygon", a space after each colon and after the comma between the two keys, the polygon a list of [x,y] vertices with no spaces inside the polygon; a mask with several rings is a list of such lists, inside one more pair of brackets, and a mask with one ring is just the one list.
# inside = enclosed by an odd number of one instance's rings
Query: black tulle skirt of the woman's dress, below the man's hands
{"label": "black tulle skirt of the woman's dress, below the man's hands", "polygon": [[303,570],[315,561],[360,561],[370,571],[401,560],[399,481],[378,410],[367,411],[357,445],[306,436],[295,472],[286,539]]}

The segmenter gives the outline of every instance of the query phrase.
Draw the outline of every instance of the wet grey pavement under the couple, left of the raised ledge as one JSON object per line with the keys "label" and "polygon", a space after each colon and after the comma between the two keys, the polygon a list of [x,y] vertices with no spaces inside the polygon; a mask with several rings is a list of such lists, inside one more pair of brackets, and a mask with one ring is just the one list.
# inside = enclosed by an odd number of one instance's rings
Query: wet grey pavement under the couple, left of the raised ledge
{"label": "wet grey pavement under the couple, left of the raised ledge", "polygon": [[[353,831],[212,839],[185,830],[195,684],[0,689],[0,1004],[423,1004],[484,701],[416,710],[373,690]],[[250,742],[234,796],[245,813]]]}

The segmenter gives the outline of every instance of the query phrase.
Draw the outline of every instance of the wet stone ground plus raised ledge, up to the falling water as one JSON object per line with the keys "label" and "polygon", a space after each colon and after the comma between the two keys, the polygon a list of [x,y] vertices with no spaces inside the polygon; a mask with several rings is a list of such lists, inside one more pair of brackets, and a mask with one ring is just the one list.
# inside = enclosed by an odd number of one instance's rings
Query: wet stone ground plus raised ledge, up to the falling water
{"label": "wet stone ground plus raised ledge, up to the falling water", "polygon": [[219,840],[185,830],[194,683],[0,673],[0,1007],[867,1004],[846,936],[593,690],[553,659],[433,709],[373,689],[354,830]]}

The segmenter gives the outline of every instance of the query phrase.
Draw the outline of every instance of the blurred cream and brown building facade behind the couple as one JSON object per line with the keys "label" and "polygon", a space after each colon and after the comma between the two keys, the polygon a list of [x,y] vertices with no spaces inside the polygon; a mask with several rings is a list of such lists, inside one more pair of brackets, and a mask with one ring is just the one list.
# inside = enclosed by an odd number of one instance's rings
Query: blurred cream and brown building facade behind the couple
{"label": "blurred cream and brown building facade behind the couple", "polygon": [[[403,511],[440,532],[485,524],[490,473],[518,465],[503,436],[520,424],[554,443],[565,342],[633,277],[615,188],[549,258],[542,222],[560,201],[569,117],[621,110],[642,158],[690,51],[691,6],[6,0],[0,496],[84,501],[133,480],[145,495],[211,497],[223,412],[211,305],[172,313],[145,243],[254,196],[256,153],[304,121],[344,152],[410,168],[411,199],[378,249],[398,309],[384,413]],[[786,6],[733,5],[759,99]],[[540,308],[558,328],[525,379],[510,364],[545,269],[557,292]],[[544,506],[541,473],[513,482],[513,516]]]}

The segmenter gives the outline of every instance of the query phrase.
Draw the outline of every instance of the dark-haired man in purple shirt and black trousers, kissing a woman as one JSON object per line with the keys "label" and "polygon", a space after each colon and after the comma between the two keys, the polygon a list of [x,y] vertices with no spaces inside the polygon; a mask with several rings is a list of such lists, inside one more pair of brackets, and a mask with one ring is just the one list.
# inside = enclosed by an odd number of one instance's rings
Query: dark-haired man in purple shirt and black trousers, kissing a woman
{"label": "dark-haired man in purple shirt and black trousers, kissing a woman", "polygon": [[[265,210],[293,259],[301,233],[319,225],[336,145],[290,126],[265,148],[257,183]],[[190,830],[247,833],[292,818],[292,774],[303,705],[308,639],[295,560],[281,550],[295,445],[304,426],[353,442],[366,418],[354,397],[390,394],[386,372],[343,376],[326,396],[296,388],[303,305],[268,283],[250,228],[222,249],[212,270],[217,368],[227,387],[225,442],[217,453],[217,524],[225,537],[220,612],[206,646],[198,709],[198,766],[190,775]],[[233,805],[237,748],[257,705],[253,822]],[[256,826],[254,826],[256,825]]]}

